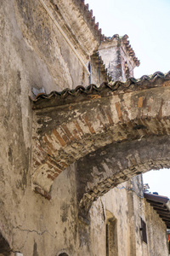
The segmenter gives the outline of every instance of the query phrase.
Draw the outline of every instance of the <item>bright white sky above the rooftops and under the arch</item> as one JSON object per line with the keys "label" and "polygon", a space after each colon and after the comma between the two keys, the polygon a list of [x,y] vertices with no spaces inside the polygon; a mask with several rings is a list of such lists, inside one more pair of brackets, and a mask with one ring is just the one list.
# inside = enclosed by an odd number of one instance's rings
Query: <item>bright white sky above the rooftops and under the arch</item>
{"label": "bright white sky above the rooftops and under the arch", "polygon": [[[170,70],[170,0],[85,0],[106,37],[128,35],[140,61],[134,77]],[[170,170],[144,174],[150,192],[170,198]]]}

